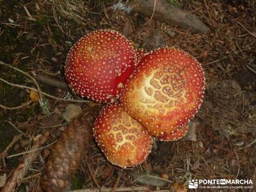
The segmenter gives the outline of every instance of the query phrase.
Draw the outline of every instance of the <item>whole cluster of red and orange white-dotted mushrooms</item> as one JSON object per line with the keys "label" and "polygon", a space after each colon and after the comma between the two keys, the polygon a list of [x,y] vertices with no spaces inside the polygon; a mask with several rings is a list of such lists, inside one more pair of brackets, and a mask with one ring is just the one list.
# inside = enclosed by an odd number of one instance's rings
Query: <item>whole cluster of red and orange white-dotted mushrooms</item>
{"label": "whole cluster of red and orange white-dotted mushrooms", "polygon": [[204,97],[204,71],[193,56],[173,47],[136,50],[106,29],[70,49],[65,76],[81,97],[108,103],[93,135],[106,158],[122,168],[145,161],[153,138],[182,138]]}

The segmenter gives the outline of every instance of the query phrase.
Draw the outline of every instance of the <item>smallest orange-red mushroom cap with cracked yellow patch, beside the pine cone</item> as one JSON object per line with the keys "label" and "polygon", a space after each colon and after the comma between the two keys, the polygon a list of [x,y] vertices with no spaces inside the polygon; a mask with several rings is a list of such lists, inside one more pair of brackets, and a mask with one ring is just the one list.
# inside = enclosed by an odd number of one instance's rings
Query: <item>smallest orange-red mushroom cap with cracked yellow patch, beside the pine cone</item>
{"label": "smallest orange-red mushroom cap with cracked yellow patch, beside the pine cone", "polygon": [[116,103],[100,113],[93,135],[108,161],[122,168],[143,163],[152,148],[150,134]]}

